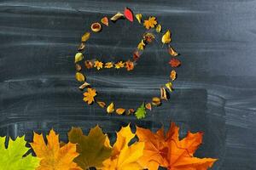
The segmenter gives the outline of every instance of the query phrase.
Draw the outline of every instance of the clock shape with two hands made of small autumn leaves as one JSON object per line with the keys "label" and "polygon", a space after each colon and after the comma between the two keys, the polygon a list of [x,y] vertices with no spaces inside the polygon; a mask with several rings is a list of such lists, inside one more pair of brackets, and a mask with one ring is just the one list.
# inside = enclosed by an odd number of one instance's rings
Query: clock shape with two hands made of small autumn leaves
{"label": "clock shape with two hands made of small autumn leaves", "polygon": [[[130,8],[125,8],[124,14],[117,13],[114,14],[113,17],[110,18],[112,23],[115,23],[117,20],[120,19],[126,19],[131,22],[133,22],[134,15]],[[148,20],[143,20],[143,14],[136,14],[135,18],[137,19],[139,24],[143,24],[146,28],[146,32],[143,34],[143,39],[141,42],[138,43],[137,48],[133,52],[132,59],[128,59],[126,61],[119,60],[117,62],[108,61],[103,62],[99,59],[85,59],[84,60],[84,48],[85,48],[85,42],[87,42],[90,39],[90,31],[86,31],[84,35],[81,37],[81,43],[78,48],[78,53],[75,54],[75,68],[76,68],[76,79],[79,82],[83,82],[81,86],[79,87],[81,90],[84,90],[84,88],[87,88],[87,91],[84,92],[84,102],[86,102],[88,105],[91,105],[96,102],[97,105],[99,105],[102,108],[107,107],[108,114],[113,113],[114,111],[118,115],[131,115],[134,114],[137,119],[144,118],[147,114],[147,111],[152,111],[152,106],[160,106],[163,100],[168,100],[169,98],[169,92],[173,91],[172,88],[172,82],[176,79],[177,73],[175,71],[175,68],[177,68],[179,65],[181,65],[180,60],[177,59],[177,52],[172,48],[170,45],[172,39],[171,39],[171,31],[167,30],[164,34],[162,34],[162,26],[158,23],[156,18],[154,16],[150,16]],[[102,24],[101,24],[102,23]],[[99,32],[102,31],[102,25],[103,26],[109,26],[110,22],[108,22],[108,17],[105,16],[102,18],[100,22],[95,22],[90,26],[90,30],[92,32]],[[84,67],[85,69],[96,69],[97,71],[100,71],[102,69],[126,69],[127,71],[133,71],[135,66],[137,65],[138,59],[143,54],[143,50],[146,48],[146,46],[154,41],[154,33],[161,34],[161,42],[166,45],[168,54],[171,55],[171,60],[169,64],[172,67],[172,71],[170,72],[170,81],[166,82],[165,85],[163,85],[160,88],[160,97],[153,97],[151,101],[143,102],[143,104],[137,108],[137,110],[134,109],[124,109],[124,108],[117,108],[115,109],[115,105],[113,102],[110,104],[106,104],[104,101],[96,99],[96,89],[91,88],[90,83],[86,82],[86,77],[84,76],[82,71],[82,66],[79,64],[80,62],[84,61]]]}

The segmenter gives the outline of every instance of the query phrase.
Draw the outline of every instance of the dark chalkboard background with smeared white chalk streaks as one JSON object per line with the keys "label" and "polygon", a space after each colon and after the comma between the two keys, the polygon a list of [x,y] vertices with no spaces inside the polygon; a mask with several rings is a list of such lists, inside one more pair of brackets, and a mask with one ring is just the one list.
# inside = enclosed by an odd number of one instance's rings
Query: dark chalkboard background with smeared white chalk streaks
{"label": "dark chalkboard background with smeared white chalk streaks", "polygon": [[[90,23],[125,6],[155,15],[172,30],[172,45],[182,55],[171,100],[146,119],[107,116],[82,100],[74,79],[73,55]],[[155,130],[173,121],[187,130],[203,131],[196,156],[218,158],[213,169],[256,169],[256,1],[161,0],[74,1],[9,0],[0,2],[0,134],[16,137],[54,127],[67,140],[72,126],[99,124],[110,138],[132,122]],[[128,59],[141,39],[137,22],[118,21],[90,38],[85,58]],[[115,57],[116,56],[116,57]],[[159,93],[168,79],[169,56],[150,45],[136,69],[90,71],[108,102],[137,107]]]}

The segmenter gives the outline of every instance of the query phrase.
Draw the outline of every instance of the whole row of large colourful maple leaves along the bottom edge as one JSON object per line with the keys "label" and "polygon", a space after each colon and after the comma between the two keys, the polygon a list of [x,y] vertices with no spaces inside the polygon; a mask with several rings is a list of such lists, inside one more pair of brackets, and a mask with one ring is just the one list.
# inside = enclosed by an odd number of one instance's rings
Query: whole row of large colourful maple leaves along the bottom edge
{"label": "whole row of large colourful maple leaves along the bottom edge", "polygon": [[[165,133],[160,128],[156,133],[137,127],[131,132],[130,124],[116,133],[116,141],[110,144],[108,135],[99,126],[84,135],[79,127],[67,133],[69,142],[60,142],[52,129],[46,135],[34,133],[30,143],[36,156],[24,156],[28,148],[24,136],[9,139],[5,148],[5,137],[0,137],[0,169],[4,170],[81,170],[96,167],[102,170],[157,170],[167,169],[203,170],[212,167],[216,159],[197,158],[193,154],[202,142],[203,133],[187,133],[179,139],[179,127],[171,123]],[[137,138],[136,138],[137,136]],[[138,139],[133,144],[132,139]]]}

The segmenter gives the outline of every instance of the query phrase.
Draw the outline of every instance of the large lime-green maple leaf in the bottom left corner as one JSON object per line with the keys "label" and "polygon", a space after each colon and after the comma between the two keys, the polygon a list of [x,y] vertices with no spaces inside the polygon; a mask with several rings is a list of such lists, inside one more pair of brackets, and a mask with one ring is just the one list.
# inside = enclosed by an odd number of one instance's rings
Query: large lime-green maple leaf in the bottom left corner
{"label": "large lime-green maple leaf in the bottom left corner", "polygon": [[26,154],[24,136],[15,140],[9,138],[8,148],[5,148],[6,137],[0,137],[0,170],[34,170],[39,165],[37,157]]}

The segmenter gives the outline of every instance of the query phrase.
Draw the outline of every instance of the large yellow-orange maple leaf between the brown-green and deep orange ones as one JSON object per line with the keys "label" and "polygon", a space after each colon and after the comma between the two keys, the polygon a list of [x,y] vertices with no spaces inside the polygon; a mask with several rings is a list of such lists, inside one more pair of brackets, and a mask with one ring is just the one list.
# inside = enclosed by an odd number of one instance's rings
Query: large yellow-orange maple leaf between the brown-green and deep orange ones
{"label": "large yellow-orange maple leaf between the brown-green and deep orange ones", "polygon": [[113,144],[111,157],[103,161],[103,170],[141,170],[143,167],[137,160],[143,156],[143,142],[136,142],[128,146],[135,133],[131,132],[130,125],[122,127],[117,133],[116,142]]}

